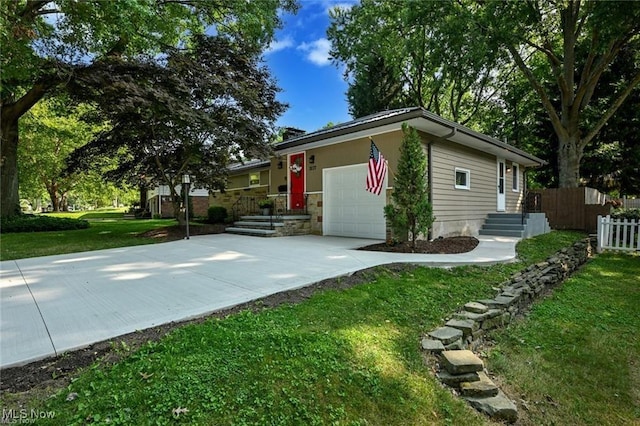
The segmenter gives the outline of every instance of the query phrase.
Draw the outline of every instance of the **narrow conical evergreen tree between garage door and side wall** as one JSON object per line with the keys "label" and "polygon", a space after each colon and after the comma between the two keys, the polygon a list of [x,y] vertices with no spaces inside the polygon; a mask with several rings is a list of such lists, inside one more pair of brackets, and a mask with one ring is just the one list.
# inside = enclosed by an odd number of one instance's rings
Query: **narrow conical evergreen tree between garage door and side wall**
{"label": "narrow conical evergreen tree between garage door and side wall", "polygon": [[404,137],[394,177],[392,204],[385,206],[384,214],[394,233],[409,233],[411,247],[415,249],[418,236],[427,234],[435,217],[429,202],[427,157],[420,136],[406,123],[402,124],[402,131]]}

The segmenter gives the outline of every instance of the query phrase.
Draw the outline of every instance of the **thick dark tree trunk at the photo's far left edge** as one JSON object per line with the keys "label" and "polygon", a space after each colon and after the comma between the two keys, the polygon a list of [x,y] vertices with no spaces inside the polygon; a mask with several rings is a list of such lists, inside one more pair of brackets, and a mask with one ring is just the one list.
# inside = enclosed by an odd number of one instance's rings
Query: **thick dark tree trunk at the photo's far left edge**
{"label": "thick dark tree trunk at the photo's far left edge", "polygon": [[18,118],[4,112],[0,156],[0,216],[19,214],[18,195]]}

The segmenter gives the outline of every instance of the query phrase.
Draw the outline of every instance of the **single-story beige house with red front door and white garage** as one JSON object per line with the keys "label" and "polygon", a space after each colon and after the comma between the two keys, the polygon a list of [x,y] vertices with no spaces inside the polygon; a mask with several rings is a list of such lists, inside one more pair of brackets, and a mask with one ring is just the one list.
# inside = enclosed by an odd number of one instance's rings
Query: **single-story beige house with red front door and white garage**
{"label": "single-story beige house with red front door and white garage", "polygon": [[[226,191],[213,192],[210,203],[231,210],[243,198],[279,197],[287,210],[311,216],[312,233],[386,239],[383,207],[391,200],[405,122],[418,131],[427,154],[436,217],[431,238],[478,235],[489,213],[521,211],[524,173],[544,161],[423,108],[385,111],[284,140],[271,159],[231,167]],[[380,196],[365,191],[369,138],[388,161]]]}

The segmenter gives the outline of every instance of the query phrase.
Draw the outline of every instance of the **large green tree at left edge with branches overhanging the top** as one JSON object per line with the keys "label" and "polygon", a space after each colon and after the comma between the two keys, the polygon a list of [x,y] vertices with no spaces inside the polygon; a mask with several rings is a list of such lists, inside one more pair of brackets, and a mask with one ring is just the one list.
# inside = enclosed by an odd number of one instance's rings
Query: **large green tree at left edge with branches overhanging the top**
{"label": "large green tree at left edge with branches overhanging the top", "polygon": [[205,29],[266,46],[293,0],[16,0],[0,2],[0,215],[16,213],[19,119],[105,58],[188,46]]}

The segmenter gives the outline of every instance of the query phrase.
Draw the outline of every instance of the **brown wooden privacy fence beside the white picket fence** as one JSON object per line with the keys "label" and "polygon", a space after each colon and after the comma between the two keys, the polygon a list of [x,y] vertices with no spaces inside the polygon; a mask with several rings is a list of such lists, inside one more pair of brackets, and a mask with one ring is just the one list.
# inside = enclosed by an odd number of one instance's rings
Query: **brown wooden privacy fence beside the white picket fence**
{"label": "brown wooden privacy fence beside the white picket fence", "polygon": [[598,215],[607,215],[608,196],[593,188],[551,188],[530,191],[540,194],[541,211],[553,229],[596,232]]}

